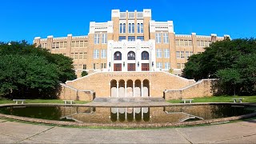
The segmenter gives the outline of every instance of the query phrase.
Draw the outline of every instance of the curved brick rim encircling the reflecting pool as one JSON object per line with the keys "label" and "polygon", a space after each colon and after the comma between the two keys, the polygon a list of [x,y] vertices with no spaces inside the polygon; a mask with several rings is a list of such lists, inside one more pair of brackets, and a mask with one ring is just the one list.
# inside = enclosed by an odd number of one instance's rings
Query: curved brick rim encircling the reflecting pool
{"label": "curved brick rim encircling the reflecting pool", "polygon": [[[187,105],[208,105],[208,104],[227,104],[229,102],[221,102],[221,103],[191,103]],[[230,103],[229,103],[230,104]],[[41,106],[62,106],[61,104],[26,104],[22,106],[29,106],[29,105],[41,105]],[[182,106],[184,104],[175,104],[170,106]],[[246,105],[246,106],[256,106],[256,104],[253,103],[232,103],[232,105]],[[19,106],[14,104],[4,104],[1,106]],[[82,105],[74,105],[74,106],[82,106]],[[84,105],[83,105],[84,106]],[[255,117],[256,112],[251,114],[243,114],[240,116],[234,116],[234,117],[228,117],[228,118],[215,118],[215,119],[208,119],[208,120],[199,120],[194,122],[173,122],[173,123],[152,123],[152,124],[134,124],[134,123],[79,123],[79,122],[63,122],[63,121],[56,121],[56,120],[45,120],[45,119],[39,119],[39,118],[26,118],[26,117],[18,117],[14,115],[8,115],[8,114],[0,114],[0,118],[12,118],[16,120],[26,121],[26,122],[38,122],[38,123],[46,123],[46,124],[54,124],[58,126],[99,126],[99,127],[114,127],[114,128],[153,128],[153,127],[171,127],[171,126],[197,126],[202,124],[214,124],[214,123],[220,123],[220,122],[229,122],[234,120],[239,120],[243,118],[251,118]]]}

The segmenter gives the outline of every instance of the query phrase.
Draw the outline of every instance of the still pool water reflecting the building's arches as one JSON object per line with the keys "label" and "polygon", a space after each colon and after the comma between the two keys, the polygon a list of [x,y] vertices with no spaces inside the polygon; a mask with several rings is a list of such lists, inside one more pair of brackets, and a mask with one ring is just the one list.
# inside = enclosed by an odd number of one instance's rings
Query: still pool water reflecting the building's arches
{"label": "still pool water reflecting the building's arches", "polygon": [[4,106],[0,113],[28,118],[90,123],[166,123],[226,118],[256,111],[253,106],[197,105],[164,107]]}

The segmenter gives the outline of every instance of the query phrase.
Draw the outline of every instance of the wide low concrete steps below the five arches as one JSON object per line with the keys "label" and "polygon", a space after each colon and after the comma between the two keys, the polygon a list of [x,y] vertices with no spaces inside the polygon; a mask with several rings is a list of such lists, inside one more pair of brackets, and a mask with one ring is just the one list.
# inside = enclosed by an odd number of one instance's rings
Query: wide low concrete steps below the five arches
{"label": "wide low concrete steps below the five arches", "polygon": [[164,98],[94,98],[94,102],[165,102]]}

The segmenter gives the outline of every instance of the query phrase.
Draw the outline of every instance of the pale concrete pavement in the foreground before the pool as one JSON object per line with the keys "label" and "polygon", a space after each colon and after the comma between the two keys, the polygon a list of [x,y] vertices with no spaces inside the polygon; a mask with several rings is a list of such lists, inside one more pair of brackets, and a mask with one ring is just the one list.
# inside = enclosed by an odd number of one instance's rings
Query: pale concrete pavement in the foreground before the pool
{"label": "pale concrete pavement in the foreground before the pool", "polygon": [[82,129],[0,119],[0,143],[256,143],[256,120],[151,130]]}

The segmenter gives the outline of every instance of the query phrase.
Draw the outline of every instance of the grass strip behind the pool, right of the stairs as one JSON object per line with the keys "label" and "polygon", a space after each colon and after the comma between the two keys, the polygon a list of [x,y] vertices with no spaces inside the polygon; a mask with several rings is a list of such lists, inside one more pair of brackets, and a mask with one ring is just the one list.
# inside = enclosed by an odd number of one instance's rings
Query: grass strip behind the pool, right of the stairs
{"label": "grass strip behind the pool, right of the stairs", "polygon": [[[213,97],[205,97],[205,98],[192,98],[193,102],[234,102],[232,98],[244,98],[242,102],[256,102],[256,96],[213,96]],[[170,100],[167,101],[170,103],[182,103],[183,101],[178,100]]]}

